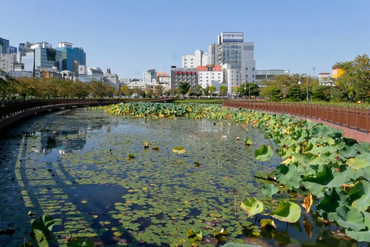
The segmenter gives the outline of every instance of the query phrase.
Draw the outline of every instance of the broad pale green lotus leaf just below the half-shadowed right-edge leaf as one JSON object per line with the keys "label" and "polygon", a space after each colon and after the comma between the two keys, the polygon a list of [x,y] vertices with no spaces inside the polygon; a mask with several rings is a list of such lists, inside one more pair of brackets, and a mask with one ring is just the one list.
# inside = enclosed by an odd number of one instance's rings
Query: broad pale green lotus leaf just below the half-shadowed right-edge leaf
{"label": "broad pale green lotus leaf just below the half-shadowed right-edge leaf", "polygon": [[365,229],[364,215],[355,207],[340,206],[336,208],[336,223],[344,228],[350,228],[354,231]]}

